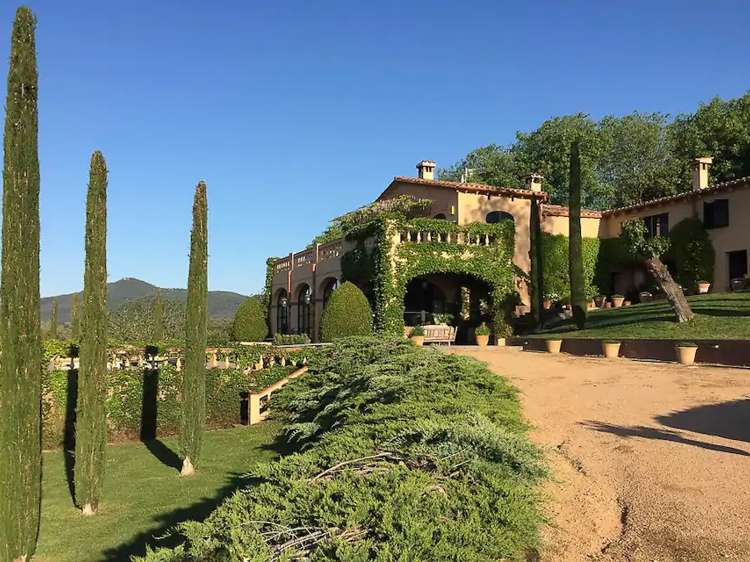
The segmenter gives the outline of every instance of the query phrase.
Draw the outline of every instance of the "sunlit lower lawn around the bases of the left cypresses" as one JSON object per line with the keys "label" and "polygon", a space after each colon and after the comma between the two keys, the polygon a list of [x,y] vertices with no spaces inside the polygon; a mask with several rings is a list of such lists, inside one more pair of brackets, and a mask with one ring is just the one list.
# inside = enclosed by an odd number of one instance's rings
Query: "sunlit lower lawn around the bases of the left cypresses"
{"label": "sunlit lower lawn around the bases of the left cypresses", "polygon": [[[181,478],[177,439],[113,445],[100,514],[84,518],[73,507],[62,453],[44,454],[42,528],[34,560],[129,560],[179,521],[203,519],[248,480],[253,466],[278,455],[270,445],[277,423],[266,421],[205,434],[195,477]],[[159,544],[168,544],[162,540]]]}

